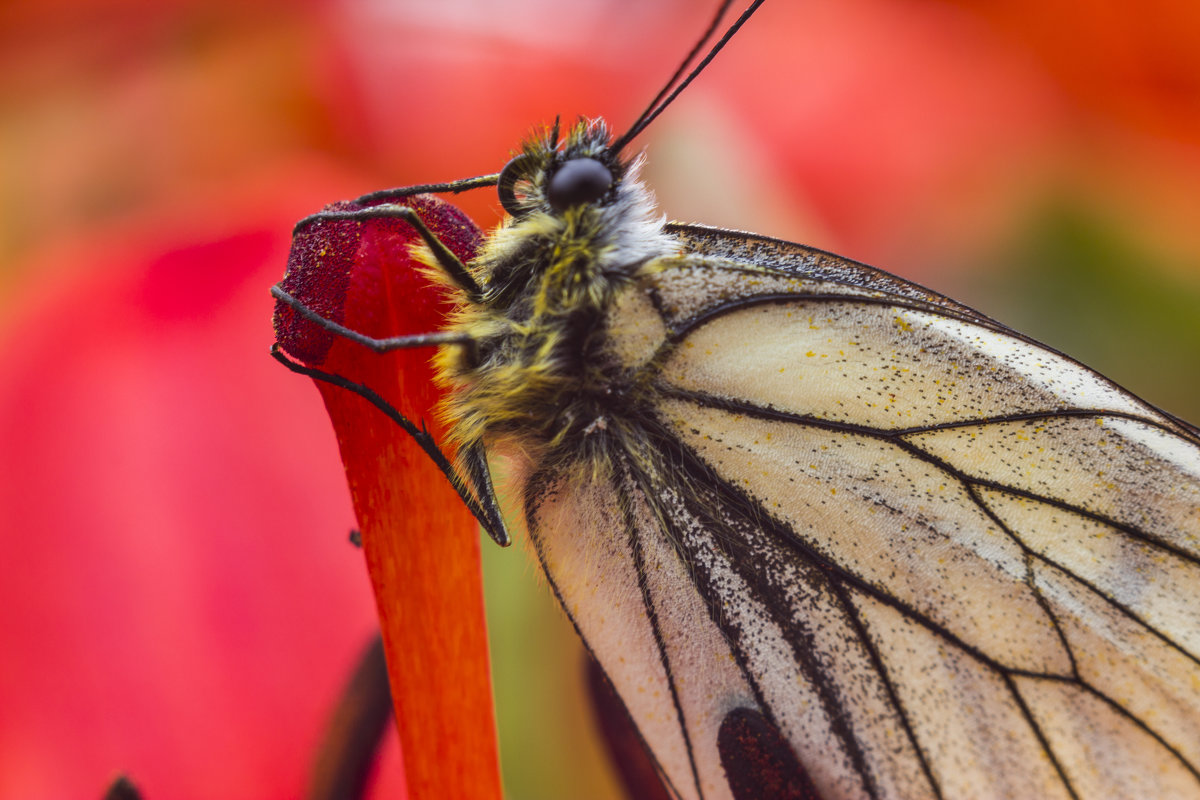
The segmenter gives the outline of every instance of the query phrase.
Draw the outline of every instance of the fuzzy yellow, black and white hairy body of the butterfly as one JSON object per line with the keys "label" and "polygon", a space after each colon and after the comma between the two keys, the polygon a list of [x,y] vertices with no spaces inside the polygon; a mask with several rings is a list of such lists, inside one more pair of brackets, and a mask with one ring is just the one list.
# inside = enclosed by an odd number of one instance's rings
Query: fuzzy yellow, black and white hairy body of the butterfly
{"label": "fuzzy yellow, black and white hairy body of the butterfly", "polygon": [[[602,127],[576,127],[563,148],[526,145],[518,182],[528,210],[492,231],[469,265],[484,287],[452,327],[472,343],[445,350],[440,375],[451,389],[445,415],[460,445],[517,435],[540,458],[594,459],[630,422],[630,377],[607,355],[606,314],[616,296],[656,258],[676,252],[654,201],[612,161],[611,196],[553,209],[545,186],[564,160],[583,151],[607,157]],[[581,447],[580,443],[584,443]],[[568,444],[570,443],[570,444]]]}

